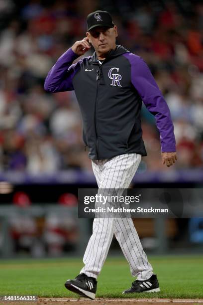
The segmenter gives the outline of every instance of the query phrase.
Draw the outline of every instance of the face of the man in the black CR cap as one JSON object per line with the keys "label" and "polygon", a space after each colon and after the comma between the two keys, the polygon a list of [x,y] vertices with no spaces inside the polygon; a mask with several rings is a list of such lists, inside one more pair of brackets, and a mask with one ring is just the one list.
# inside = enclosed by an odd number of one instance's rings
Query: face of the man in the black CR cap
{"label": "face of the man in the black CR cap", "polygon": [[115,38],[118,35],[116,25],[110,28],[97,26],[86,34],[98,54],[105,54],[115,49]]}

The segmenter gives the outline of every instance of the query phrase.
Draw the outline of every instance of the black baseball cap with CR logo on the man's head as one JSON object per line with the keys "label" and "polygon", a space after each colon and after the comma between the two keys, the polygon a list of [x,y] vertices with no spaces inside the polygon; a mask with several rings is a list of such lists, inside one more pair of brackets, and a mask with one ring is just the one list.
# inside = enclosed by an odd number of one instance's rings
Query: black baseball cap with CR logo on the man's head
{"label": "black baseball cap with CR logo on the man's head", "polygon": [[87,16],[88,31],[96,26],[113,27],[111,15],[105,10],[96,10]]}

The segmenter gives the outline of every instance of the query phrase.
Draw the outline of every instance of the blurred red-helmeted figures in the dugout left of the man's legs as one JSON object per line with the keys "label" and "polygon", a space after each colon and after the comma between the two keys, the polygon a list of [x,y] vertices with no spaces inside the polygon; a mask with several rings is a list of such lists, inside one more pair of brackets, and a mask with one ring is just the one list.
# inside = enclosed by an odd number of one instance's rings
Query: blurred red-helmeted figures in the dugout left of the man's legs
{"label": "blurred red-helmeted figures in the dugout left of the man's legs", "polygon": [[72,193],[63,193],[56,204],[46,206],[32,205],[25,192],[16,191],[12,205],[7,210],[4,207],[4,217],[0,217],[0,256],[8,249],[7,256],[24,253],[34,257],[76,251],[82,238],[77,205],[78,198]]}

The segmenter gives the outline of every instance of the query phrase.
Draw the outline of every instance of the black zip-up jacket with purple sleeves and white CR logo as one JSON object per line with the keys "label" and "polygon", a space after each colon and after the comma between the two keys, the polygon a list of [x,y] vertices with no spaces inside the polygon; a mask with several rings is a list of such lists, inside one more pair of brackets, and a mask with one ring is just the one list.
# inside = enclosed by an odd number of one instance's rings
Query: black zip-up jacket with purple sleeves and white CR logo
{"label": "black zip-up jacket with purple sleeves and white CR logo", "polygon": [[70,48],[49,71],[44,89],[75,90],[83,119],[83,140],[91,159],[136,152],[147,155],[142,140],[141,106],[155,115],[162,152],[175,152],[170,111],[144,60],[116,45],[102,65],[96,52],[77,63]]}

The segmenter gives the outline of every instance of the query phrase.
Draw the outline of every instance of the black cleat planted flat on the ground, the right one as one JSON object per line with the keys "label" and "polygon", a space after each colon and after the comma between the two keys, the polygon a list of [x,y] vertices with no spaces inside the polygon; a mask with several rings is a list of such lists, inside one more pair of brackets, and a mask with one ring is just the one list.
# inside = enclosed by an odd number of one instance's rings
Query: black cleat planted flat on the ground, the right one
{"label": "black cleat planted flat on the ground, the right one", "polygon": [[153,274],[151,278],[146,281],[134,281],[132,287],[123,291],[122,294],[134,294],[143,292],[160,292],[159,282],[157,276]]}

